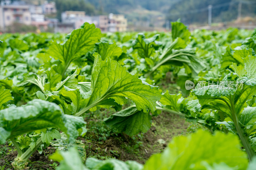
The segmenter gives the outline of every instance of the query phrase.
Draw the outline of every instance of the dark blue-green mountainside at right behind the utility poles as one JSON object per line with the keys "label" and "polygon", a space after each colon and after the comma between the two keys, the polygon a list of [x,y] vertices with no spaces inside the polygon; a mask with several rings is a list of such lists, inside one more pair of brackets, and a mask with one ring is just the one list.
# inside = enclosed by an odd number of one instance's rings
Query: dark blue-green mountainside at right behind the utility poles
{"label": "dark blue-green mountainside at right behind the utility poles", "polygon": [[239,2],[242,17],[256,16],[255,0],[180,0],[170,6],[167,19],[181,18],[186,24],[207,23],[208,6],[212,5],[212,22],[227,22],[237,18]]}

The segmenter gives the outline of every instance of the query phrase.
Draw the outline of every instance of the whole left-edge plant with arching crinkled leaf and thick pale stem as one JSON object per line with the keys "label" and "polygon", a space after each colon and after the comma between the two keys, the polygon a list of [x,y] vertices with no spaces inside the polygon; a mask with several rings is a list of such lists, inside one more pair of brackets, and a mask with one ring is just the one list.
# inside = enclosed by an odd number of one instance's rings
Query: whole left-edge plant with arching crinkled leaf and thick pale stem
{"label": "whole left-edge plant with arching crinkled leaf and thick pale stem", "polygon": [[[70,141],[73,141],[86,132],[85,124],[81,117],[64,115],[55,103],[34,99],[21,107],[12,106],[0,111],[0,143],[4,144],[7,139],[11,139],[18,151],[18,156],[12,166],[25,168],[28,158],[41,144],[50,144],[52,139],[60,138],[59,131],[52,127],[60,128],[68,135]],[[18,141],[19,145],[14,140],[14,137],[40,129],[42,130],[41,137],[36,142],[32,143],[27,138],[21,137]],[[21,151],[28,146],[31,149]]]}

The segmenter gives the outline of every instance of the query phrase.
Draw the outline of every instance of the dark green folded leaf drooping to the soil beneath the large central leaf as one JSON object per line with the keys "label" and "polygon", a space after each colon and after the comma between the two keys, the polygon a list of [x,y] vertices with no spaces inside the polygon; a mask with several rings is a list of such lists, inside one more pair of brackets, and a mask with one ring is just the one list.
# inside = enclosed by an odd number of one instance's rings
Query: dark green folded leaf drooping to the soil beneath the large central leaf
{"label": "dark green folded leaf drooping to the soil beneath the large central leaf", "polygon": [[104,122],[111,129],[117,129],[119,133],[124,132],[133,136],[140,132],[146,133],[150,129],[151,115],[138,111],[136,107],[128,107],[104,119]]}

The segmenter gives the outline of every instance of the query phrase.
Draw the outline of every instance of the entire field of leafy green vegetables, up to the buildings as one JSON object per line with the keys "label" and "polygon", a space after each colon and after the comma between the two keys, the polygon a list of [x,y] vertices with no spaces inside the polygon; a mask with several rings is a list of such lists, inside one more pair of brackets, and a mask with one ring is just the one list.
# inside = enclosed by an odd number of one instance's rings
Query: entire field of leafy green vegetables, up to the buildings
{"label": "entire field of leafy green vegetables, up to the buildings", "polygon": [[255,170],[256,29],[0,40],[1,170]]}

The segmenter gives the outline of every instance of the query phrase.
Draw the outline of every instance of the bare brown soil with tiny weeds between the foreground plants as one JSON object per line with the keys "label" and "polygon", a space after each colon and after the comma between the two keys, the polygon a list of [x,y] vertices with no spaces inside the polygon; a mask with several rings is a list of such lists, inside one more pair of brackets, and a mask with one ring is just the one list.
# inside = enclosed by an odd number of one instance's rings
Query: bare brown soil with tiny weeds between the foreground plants
{"label": "bare brown soil with tiny weeds between the foreground plants", "polygon": [[[83,138],[80,137],[79,139],[85,145],[86,158],[116,158],[123,161],[135,160],[144,164],[152,154],[162,152],[173,137],[182,134],[185,135],[189,126],[191,124],[185,122],[184,118],[162,112],[157,117],[152,118],[152,126],[147,133],[140,134],[136,137],[118,134],[110,136],[104,141],[98,140],[94,132],[88,129],[86,136]],[[1,147],[8,147],[8,145],[2,145]],[[53,161],[49,160],[48,156],[54,151],[55,149],[53,147],[48,147],[42,154],[35,152],[30,157],[29,169],[53,169],[50,166],[50,164],[53,164]],[[16,156],[16,151],[7,151],[5,154],[0,155],[0,166],[5,165],[5,169],[12,169],[11,162]]]}

